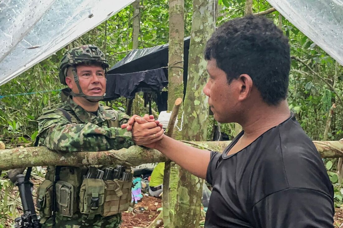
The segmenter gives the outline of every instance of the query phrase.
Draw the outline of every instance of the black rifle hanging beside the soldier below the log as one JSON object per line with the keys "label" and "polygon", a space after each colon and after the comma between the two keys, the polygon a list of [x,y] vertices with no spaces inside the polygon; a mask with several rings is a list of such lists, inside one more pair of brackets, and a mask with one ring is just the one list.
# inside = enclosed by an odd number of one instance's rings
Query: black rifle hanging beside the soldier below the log
{"label": "black rifle hanging beside the soldier below the log", "polygon": [[14,219],[14,228],[41,228],[39,216],[36,215],[35,205],[33,204],[32,192],[33,183],[29,180],[32,167],[28,167],[26,176],[17,175],[16,186],[19,188],[20,198],[23,204],[24,213]]}

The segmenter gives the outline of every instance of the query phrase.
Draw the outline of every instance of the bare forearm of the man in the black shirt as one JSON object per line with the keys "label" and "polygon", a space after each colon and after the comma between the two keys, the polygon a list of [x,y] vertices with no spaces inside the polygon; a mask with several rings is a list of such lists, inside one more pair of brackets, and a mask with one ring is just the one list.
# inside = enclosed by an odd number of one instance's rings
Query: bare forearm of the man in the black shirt
{"label": "bare forearm of the man in the black shirt", "polygon": [[210,151],[187,146],[168,136],[163,136],[162,140],[156,144],[155,149],[190,173],[203,179],[206,178]]}

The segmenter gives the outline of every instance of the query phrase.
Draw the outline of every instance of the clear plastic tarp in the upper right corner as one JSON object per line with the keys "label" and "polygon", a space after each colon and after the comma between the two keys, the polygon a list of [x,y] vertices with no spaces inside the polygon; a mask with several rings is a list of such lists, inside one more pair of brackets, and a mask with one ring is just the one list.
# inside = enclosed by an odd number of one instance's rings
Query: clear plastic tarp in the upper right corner
{"label": "clear plastic tarp in the upper right corner", "polygon": [[343,0],[267,0],[343,65]]}

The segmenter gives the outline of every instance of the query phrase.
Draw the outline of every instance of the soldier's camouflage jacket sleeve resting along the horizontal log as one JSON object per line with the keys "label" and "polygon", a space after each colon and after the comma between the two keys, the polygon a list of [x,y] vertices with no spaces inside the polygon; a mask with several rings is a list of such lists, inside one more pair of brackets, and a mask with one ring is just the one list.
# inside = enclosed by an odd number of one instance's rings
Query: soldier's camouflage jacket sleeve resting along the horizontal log
{"label": "soldier's camouflage jacket sleeve resting along the horizontal log", "polygon": [[118,150],[134,145],[126,129],[70,123],[59,111],[38,118],[38,136],[47,148],[66,152]]}

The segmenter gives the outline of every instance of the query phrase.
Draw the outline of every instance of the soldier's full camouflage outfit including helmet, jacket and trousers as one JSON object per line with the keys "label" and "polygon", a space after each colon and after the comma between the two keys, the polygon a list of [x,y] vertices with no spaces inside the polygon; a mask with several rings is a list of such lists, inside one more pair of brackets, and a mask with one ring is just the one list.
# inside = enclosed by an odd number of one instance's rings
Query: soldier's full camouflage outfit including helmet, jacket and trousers
{"label": "soldier's full camouflage outfit including helmet, jacket and trousers", "polygon": [[[93,58],[92,53],[95,55]],[[66,57],[67,56],[67,57]],[[79,58],[80,57],[80,58]],[[102,63],[104,69],[108,67],[104,55],[93,45],[85,45],[74,48],[67,52],[60,66],[60,81],[66,84],[65,73],[68,66],[75,66],[79,63],[87,63],[87,58],[94,62]],[[81,60],[80,60],[81,59]],[[64,65],[63,65],[64,64]],[[92,64],[92,62],[90,62]],[[74,77],[77,77],[74,75]],[[64,92],[68,89],[64,89]],[[78,152],[78,151],[104,151],[110,149],[128,148],[134,145],[131,133],[126,129],[120,129],[120,125],[126,123],[129,119],[125,113],[110,109],[99,104],[97,115],[84,110],[81,106],[75,104],[72,100],[73,94],[70,89],[68,93],[62,93],[62,103],[58,108],[65,110],[71,122],[58,109],[51,109],[43,112],[43,116],[38,118],[38,136],[40,145],[60,152]],[[72,96],[70,96],[70,94]],[[82,92],[80,93],[88,99]],[[78,95],[78,94],[76,94]],[[92,97],[91,97],[92,98]],[[114,127],[116,119],[117,127]],[[68,167],[66,169],[87,170],[87,167]],[[82,173],[83,174],[83,173]],[[82,174],[77,177],[82,182]],[[49,166],[46,179],[53,181],[55,176],[55,166]],[[79,183],[76,181],[76,183]],[[78,187],[80,190],[80,187]],[[76,191],[76,190],[75,190]],[[116,228],[121,223],[121,214],[103,217],[95,215],[93,219],[87,219],[87,215],[79,211],[72,217],[62,216],[56,213],[56,227],[66,228]],[[41,219],[43,228],[52,227],[52,218]]]}

